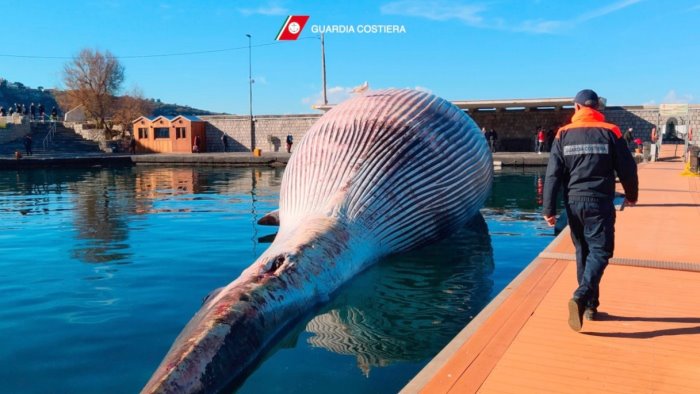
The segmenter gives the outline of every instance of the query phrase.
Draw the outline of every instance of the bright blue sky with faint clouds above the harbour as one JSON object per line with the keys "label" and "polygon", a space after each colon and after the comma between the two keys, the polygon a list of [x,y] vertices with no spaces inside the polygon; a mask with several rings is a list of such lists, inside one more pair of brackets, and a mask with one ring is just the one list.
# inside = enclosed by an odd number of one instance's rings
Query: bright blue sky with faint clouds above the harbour
{"label": "bright blue sky with faint clouds above the harbour", "polygon": [[[211,111],[248,113],[249,33],[254,113],[315,112],[320,40],[311,25],[365,24],[406,33],[327,34],[331,102],[364,81],[450,100],[593,88],[612,105],[700,102],[700,0],[2,0],[0,9],[0,77],[60,88],[67,58],[97,48],[121,58],[124,91]],[[302,39],[275,42],[287,15],[310,16]],[[231,50],[133,57],[219,49]]]}

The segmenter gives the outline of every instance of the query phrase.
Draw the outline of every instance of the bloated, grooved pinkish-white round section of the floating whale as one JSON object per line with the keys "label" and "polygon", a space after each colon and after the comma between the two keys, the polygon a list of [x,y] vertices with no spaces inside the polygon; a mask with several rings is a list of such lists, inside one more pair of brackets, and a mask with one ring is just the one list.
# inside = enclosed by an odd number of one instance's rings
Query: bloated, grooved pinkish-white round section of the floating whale
{"label": "bloated, grooved pinkish-white round section of the floating whale", "polygon": [[463,225],[492,175],[479,128],[450,102],[408,89],[366,93],[302,139],[282,182],[280,231],[336,217],[371,234],[380,254],[407,250]]}

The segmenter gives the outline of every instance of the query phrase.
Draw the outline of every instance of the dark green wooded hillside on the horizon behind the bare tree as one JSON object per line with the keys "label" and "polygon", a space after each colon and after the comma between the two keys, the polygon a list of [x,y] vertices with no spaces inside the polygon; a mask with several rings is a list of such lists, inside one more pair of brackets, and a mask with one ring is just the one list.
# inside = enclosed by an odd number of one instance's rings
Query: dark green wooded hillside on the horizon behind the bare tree
{"label": "dark green wooded hillside on the horizon behind the bare tree", "polygon": [[[153,104],[153,113],[145,115],[216,115],[214,112],[192,108],[187,105],[163,103],[158,99],[149,99]],[[58,108],[54,89],[44,89],[39,86],[30,88],[21,82],[10,82],[4,78],[0,78],[0,106],[9,109],[15,103],[24,104],[29,108],[31,103],[35,105],[44,104],[47,112],[51,108]]]}

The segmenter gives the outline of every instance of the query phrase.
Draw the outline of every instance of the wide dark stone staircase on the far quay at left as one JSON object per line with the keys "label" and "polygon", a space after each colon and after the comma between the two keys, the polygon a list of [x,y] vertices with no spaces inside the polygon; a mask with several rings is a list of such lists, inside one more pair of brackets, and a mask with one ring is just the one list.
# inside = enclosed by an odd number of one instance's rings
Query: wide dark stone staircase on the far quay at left
{"label": "wide dark stone staircase on the far quay at left", "polygon": [[[83,155],[101,153],[99,144],[86,140],[78,133],[63,126],[63,123],[56,122],[52,137],[47,138],[51,131],[52,123],[33,122],[31,126],[32,150],[34,155],[39,156],[64,156]],[[14,155],[15,150],[19,150],[24,155],[24,139],[0,144],[0,156]]]}

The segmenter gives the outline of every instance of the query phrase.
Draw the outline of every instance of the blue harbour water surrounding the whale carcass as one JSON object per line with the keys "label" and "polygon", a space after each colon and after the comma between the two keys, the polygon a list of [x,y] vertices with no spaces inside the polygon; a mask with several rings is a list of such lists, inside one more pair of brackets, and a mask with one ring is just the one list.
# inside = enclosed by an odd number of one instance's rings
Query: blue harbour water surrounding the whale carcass
{"label": "blue harbour water surrounding the whale carcass", "polygon": [[[0,171],[0,392],[138,392],[202,298],[267,247],[276,229],[255,222],[282,173]],[[237,391],[400,390],[552,240],[541,176],[498,173],[483,219],[364,272]]]}

